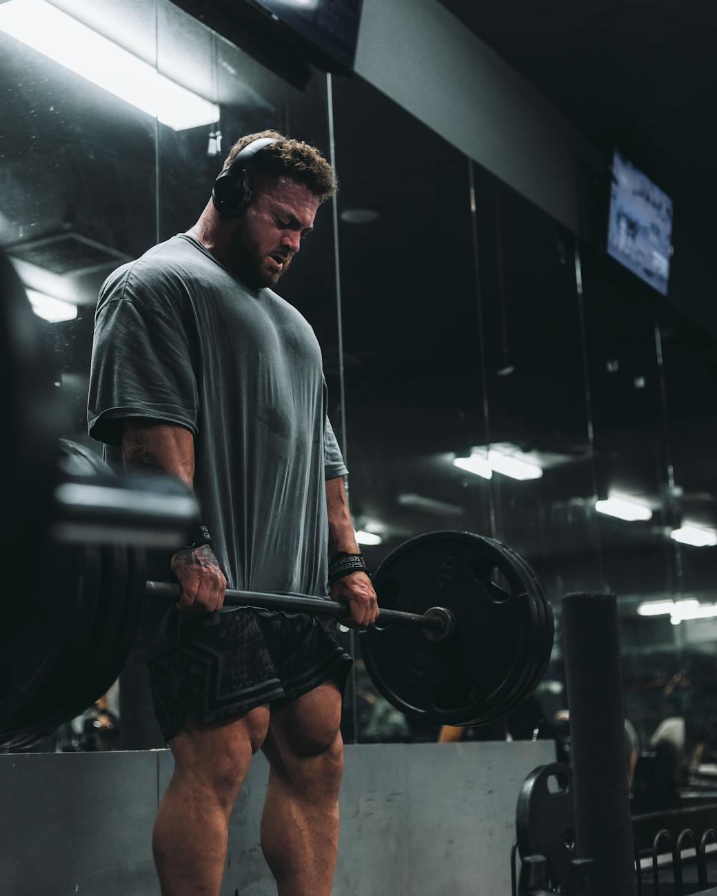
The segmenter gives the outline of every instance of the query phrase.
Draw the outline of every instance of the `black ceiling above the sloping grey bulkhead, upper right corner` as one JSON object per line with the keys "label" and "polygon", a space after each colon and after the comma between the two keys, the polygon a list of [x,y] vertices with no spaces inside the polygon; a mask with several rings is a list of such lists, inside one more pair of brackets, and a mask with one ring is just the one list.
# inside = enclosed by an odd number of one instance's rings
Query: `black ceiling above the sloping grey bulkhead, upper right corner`
{"label": "black ceiling above the sloping grey bulkhead, upper right corner", "polygon": [[717,194],[713,0],[439,2],[594,140]]}

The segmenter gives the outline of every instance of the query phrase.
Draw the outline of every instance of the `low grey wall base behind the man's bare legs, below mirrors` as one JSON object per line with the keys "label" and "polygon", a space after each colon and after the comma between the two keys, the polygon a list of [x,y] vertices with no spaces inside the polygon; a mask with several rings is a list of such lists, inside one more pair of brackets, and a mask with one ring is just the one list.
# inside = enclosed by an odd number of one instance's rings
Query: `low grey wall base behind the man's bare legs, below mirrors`
{"label": "low grey wall base behind the man's bare legs, below mirrors", "polygon": [[[549,741],[346,747],[335,896],[510,892],[515,801]],[[0,891],[159,896],[151,827],[168,750],[0,755]],[[230,819],[222,896],[276,892],[259,846],[268,766],[252,762]]]}

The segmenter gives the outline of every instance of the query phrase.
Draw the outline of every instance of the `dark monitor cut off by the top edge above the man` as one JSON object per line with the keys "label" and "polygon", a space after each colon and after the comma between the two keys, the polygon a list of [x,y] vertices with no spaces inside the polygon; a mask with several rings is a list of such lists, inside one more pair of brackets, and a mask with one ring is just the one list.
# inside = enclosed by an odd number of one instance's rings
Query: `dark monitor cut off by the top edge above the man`
{"label": "dark monitor cut off by the top edge above the man", "polygon": [[339,70],[353,68],[362,0],[250,0]]}

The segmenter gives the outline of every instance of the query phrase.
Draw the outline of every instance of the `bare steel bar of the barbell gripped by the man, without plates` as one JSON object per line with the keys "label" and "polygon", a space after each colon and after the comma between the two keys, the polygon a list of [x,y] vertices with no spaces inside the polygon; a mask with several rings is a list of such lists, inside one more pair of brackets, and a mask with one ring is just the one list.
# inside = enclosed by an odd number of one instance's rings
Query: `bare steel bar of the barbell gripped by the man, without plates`
{"label": "bare steel bar of the barbell gripped by the man, without plates", "polygon": [[[173,582],[147,582],[147,595],[152,598],[178,600],[181,589]],[[316,613],[322,616],[346,620],[350,618],[346,604],[338,600],[324,600],[294,594],[264,594],[261,591],[243,591],[228,588],[224,592],[225,607],[259,607],[268,610],[283,610],[289,613]],[[440,611],[440,612],[437,612]],[[419,613],[403,613],[401,610],[382,609],[376,619],[376,627],[402,625],[419,628],[430,633],[431,640],[441,641],[453,632],[453,614],[445,607],[432,607],[425,616]],[[450,624],[449,624],[450,623]]]}

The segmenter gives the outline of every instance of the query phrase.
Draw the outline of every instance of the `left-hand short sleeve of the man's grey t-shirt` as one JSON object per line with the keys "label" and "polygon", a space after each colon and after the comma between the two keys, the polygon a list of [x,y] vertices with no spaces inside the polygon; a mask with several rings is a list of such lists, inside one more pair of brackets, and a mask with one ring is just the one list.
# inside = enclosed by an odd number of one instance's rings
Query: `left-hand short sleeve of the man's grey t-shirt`
{"label": "left-hand short sleeve of the man's grey t-shirt", "polygon": [[[136,264],[136,263],[135,263]],[[92,438],[122,443],[123,420],[144,417],[197,434],[198,392],[182,297],[171,279],[135,265],[103,285],[92,343]]]}

